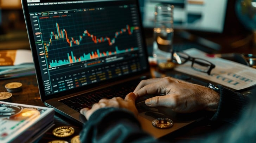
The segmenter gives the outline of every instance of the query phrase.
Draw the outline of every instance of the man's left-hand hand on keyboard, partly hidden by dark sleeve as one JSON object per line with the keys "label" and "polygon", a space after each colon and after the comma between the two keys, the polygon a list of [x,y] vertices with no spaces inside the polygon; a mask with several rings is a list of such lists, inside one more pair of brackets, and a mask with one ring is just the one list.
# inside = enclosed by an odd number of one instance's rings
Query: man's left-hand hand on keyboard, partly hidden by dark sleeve
{"label": "man's left-hand hand on keyboard, partly hidden by dark sleeve", "polygon": [[134,113],[134,115],[138,116],[138,111],[135,107],[135,94],[129,93],[126,95],[126,97],[114,97],[112,99],[101,99],[98,103],[95,103],[92,105],[92,108],[83,108],[80,110],[80,113],[83,114],[87,120],[90,118],[91,114],[94,113],[97,109],[103,108],[103,107],[117,107],[117,108],[125,108]]}

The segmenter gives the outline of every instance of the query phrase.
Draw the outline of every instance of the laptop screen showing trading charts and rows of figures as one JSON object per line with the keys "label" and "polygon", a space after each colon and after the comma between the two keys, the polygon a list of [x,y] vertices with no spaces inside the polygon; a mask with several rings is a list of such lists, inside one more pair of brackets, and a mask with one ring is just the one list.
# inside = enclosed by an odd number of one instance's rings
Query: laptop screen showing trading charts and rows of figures
{"label": "laptop screen showing trading charts and rows of figures", "polygon": [[40,94],[86,89],[148,70],[136,0],[25,4]]}

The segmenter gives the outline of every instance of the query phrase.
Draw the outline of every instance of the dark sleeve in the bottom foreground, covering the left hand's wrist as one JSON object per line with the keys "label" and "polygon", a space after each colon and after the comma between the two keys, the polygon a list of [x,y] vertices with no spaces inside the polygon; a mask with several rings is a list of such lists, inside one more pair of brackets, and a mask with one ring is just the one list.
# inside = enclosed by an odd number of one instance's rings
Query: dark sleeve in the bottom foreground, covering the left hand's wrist
{"label": "dark sleeve in the bottom foreground, covering the left hand's wrist", "polygon": [[120,108],[96,110],[84,124],[80,140],[83,143],[158,142],[141,129],[132,113]]}

